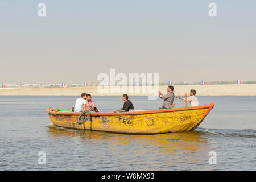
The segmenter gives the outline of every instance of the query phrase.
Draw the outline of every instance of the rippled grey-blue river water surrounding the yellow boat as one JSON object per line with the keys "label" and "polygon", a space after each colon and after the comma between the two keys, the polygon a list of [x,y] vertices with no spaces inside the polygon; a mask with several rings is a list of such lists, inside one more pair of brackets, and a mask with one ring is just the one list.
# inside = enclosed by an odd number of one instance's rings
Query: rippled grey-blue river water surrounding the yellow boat
{"label": "rippled grey-blue river water surrounding the yellow boat", "polygon": [[[69,109],[74,96],[0,96],[0,170],[255,170],[256,97],[197,96],[214,108],[195,130],[127,135],[56,127],[46,109]],[[117,96],[94,96],[100,111],[121,109]],[[135,109],[162,100],[130,97]],[[184,102],[175,100],[177,107]],[[38,152],[46,164],[38,164]],[[210,165],[209,152],[217,154]]]}

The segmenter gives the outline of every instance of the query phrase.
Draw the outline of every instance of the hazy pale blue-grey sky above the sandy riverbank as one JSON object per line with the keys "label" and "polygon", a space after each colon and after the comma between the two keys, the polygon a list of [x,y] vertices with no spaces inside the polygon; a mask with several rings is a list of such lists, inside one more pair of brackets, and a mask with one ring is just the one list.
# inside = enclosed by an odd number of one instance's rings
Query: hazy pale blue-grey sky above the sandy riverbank
{"label": "hazy pale blue-grey sky above the sandy riverbank", "polygon": [[0,84],[97,82],[110,68],[160,82],[256,80],[256,1],[1,0],[0,38]]}

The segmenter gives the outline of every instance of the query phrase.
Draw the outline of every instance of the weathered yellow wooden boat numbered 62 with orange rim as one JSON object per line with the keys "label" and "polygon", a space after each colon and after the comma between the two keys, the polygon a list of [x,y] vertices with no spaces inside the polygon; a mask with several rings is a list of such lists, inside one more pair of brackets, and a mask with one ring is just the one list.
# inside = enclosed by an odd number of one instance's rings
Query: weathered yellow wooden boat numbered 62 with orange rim
{"label": "weathered yellow wooden boat numbered 62 with orange rim", "polygon": [[[214,104],[133,111],[125,113],[74,113],[69,110],[52,109],[47,113],[51,121],[60,127],[72,129],[109,131],[129,134],[160,134],[195,130],[204,120]],[[79,117],[84,116],[85,122],[79,124]]]}

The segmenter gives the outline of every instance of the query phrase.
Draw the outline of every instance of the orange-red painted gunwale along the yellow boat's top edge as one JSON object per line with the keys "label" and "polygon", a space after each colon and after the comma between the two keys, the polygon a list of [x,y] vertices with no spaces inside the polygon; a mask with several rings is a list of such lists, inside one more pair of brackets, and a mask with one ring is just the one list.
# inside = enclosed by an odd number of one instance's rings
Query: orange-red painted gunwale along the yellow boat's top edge
{"label": "orange-red painted gunwale along the yellow boat's top edge", "polygon": [[[203,118],[205,118],[210,110],[212,110],[214,103],[210,103],[209,105],[201,105],[201,106],[192,106],[192,107],[179,107],[179,108],[172,108],[172,109],[158,109],[158,110],[147,110],[147,111],[135,111],[135,112],[123,112],[123,113],[90,113],[91,115],[138,115],[138,114],[153,114],[153,113],[166,113],[170,111],[183,111],[183,110],[195,110],[195,109],[207,109],[206,113],[204,114]],[[82,112],[56,112],[51,111],[52,107],[49,107],[46,111],[48,114],[54,115],[80,115]],[[86,115],[86,114],[85,114]]]}

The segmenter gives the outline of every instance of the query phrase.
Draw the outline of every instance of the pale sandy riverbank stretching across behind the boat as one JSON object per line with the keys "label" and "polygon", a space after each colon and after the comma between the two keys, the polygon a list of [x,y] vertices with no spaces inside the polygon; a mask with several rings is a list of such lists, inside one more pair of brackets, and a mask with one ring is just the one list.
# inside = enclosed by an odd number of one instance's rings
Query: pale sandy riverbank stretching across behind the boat
{"label": "pale sandy riverbank stretching across behind the boat", "polygon": [[[115,87],[116,89],[117,87]],[[85,87],[69,87],[69,88],[14,88],[0,89],[0,96],[80,96],[81,93],[90,93],[93,96],[116,96],[127,93],[130,96],[148,96],[152,93],[144,92],[146,86],[140,86],[139,92],[110,92],[111,87],[108,87],[109,93],[100,93],[97,86]],[[113,87],[112,87],[113,89]],[[160,92],[166,93],[166,86],[159,86]],[[175,95],[189,94],[189,90],[195,89],[197,96],[256,96],[256,84],[243,85],[174,85]],[[129,90],[129,87],[127,87]],[[156,92],[155,92],[156,94]]]}

